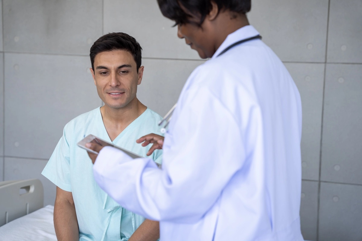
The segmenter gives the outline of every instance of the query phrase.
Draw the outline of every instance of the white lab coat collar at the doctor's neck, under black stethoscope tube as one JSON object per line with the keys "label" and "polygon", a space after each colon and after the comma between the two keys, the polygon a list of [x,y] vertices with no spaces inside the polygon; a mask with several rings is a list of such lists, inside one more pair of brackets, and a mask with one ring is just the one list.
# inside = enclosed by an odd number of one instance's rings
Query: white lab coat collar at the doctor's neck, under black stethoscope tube
{"label": "white lab coat collar at the doctor's neck, under black stethoscope tube", "polygon": [[247,25],[247,26],[244,26],[244,27],[236,30],[235,32],[229,34],[226,37],[226,39],[220,45],[218,50],[216,50],[214,55],[212,55],[211,59],[215,59],[219,55],[219,53],[221,53],[224,49],[229,47],[231,44],[236,43],[237,41],[242,40],[242,39],[247,39],[252,36],[256,36],[258,34],[259,34],[259,32],[251,25]]}

